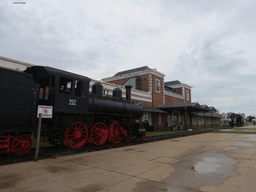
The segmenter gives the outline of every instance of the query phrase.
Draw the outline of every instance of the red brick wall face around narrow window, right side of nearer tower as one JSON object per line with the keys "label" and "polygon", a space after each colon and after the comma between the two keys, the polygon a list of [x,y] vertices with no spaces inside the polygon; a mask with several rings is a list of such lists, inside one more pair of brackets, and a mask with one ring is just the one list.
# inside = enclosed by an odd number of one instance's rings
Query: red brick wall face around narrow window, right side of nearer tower
{"label": "red brick wall face around narrow window, right side of nearer tower", "polygon": [[[156,92],[156,79],[160,80],[160,93]],[[152,100],[153,107],[164,105],[164,78],[152,75]]]}

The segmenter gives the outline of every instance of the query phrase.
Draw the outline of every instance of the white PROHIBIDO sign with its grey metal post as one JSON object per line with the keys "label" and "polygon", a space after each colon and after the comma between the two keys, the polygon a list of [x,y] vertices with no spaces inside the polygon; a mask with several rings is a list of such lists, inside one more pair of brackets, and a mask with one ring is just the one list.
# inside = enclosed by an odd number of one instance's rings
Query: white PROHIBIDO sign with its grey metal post
{"label": "white PROHIBIDO sign with its grey metal post", "polygon": [[42,118],[52,118],[52,106],[38,105],[37,118],[38,118],[38,126],[37,126],[35,161],[38,160],[38,154],[39,154]]}

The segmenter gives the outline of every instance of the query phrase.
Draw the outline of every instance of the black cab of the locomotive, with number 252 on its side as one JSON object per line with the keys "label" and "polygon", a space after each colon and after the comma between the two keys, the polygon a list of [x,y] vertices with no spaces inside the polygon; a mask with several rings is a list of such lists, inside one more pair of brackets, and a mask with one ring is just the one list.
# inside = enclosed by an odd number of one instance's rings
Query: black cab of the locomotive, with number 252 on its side
{"label": "black cab of the locomotive, with number 252 on its side", "polygon": [[33,66],[32,73],[39,83],[39,105],[53,106],[53,112],[86,114],[90,78],[51,67]]}

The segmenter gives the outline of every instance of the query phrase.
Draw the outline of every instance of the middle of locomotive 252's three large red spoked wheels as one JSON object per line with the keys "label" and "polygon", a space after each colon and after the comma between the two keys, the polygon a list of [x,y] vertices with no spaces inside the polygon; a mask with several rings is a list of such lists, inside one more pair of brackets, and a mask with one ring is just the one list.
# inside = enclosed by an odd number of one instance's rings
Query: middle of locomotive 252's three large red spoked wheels
{"label": "middle of locomotive 252's three large red spoked wheels", "polygon": [[104,145],[107,141],[109,132],[107,130],[106,124],[104,122],[97,122],[93,124],[90,130],[90,140],[94,145]]}

